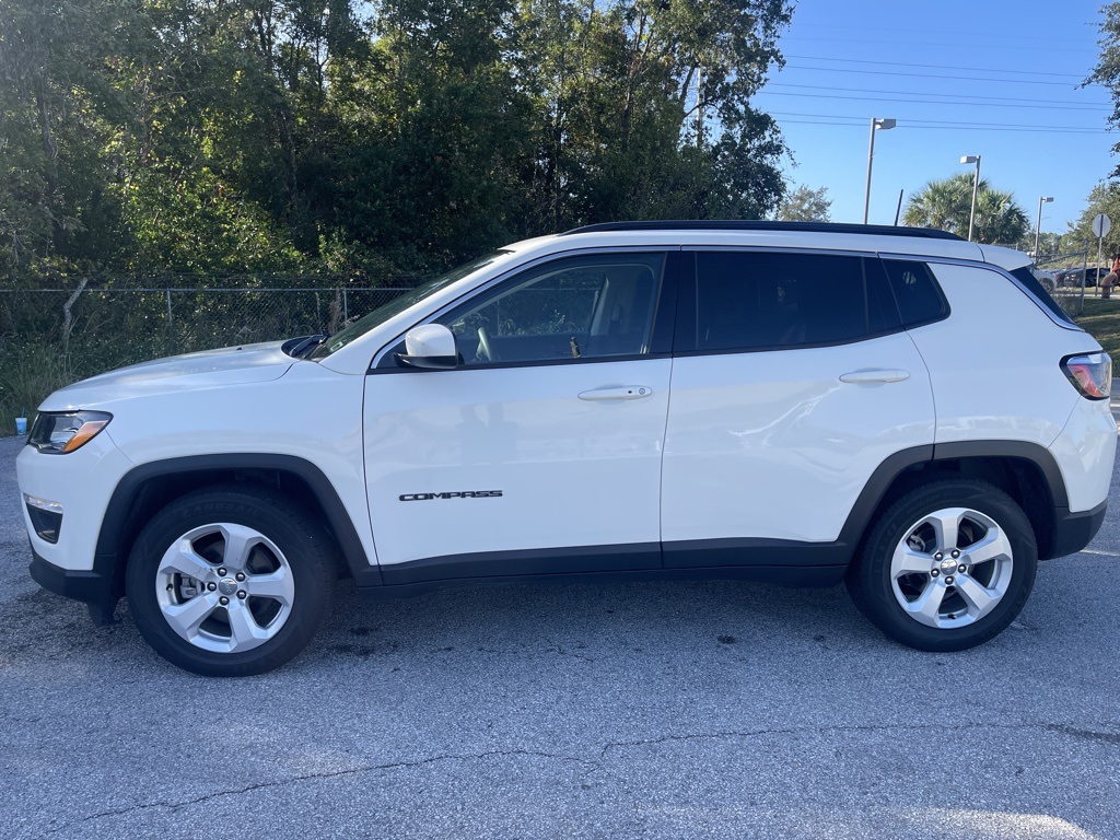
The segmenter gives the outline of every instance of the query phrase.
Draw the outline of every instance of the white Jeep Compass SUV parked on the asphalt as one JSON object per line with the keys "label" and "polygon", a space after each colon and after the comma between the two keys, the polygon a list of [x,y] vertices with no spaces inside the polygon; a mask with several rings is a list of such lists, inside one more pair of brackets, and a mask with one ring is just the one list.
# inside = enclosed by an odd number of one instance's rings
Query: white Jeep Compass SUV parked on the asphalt
{"label": "white Jeep Compass SUV parked on the asphalt", "polygon": [[311,638],[333,582],[846,580],[980,644],[1104,516],[1111,361],[1018,252],[647,222],[520,242],[336,335],[65,388],[18,459],[44,587],[175,664]]}

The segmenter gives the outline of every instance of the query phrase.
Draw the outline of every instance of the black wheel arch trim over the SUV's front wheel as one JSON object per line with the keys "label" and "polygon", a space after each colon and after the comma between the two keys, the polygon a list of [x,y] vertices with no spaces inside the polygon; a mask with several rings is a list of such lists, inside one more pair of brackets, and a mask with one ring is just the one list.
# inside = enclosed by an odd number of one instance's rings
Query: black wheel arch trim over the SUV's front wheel
{"label": "black wheel arch trim over the SUV's front wheel", "polygon": [[109,506],[105,508],[93,559],[93,573],[114,581],[112,586],[114,597],[119,598],[123,595],[123,587],[120,586],[123,563],[119,562],[118,544],[141,489],[151,480],[172,475],[239,470],[287,473],[301,479],[310,488],[319,506],[323,507],[327,524],[338,541],[338,548],[354,576],[355,582],[358,586],[379,586],[382,582],[381,570],[370,562],[349,514],[323,470],[315,464],[293,455],[268,452],[231,452],[168,458],[141,464],[125,473],[113,489]]}

